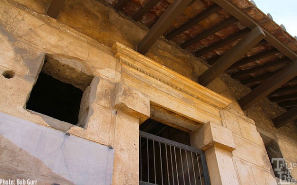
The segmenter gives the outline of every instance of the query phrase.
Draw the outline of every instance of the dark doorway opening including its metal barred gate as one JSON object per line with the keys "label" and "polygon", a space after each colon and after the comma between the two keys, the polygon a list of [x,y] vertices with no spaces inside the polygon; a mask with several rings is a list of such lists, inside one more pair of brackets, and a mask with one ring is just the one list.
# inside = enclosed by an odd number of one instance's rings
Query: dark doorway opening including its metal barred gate
{"label": "dark doorway opening including its metal barred gate", "polygon": [[203,155],[189,133],[153,119],[140,125],[140,185],[207,185]]}

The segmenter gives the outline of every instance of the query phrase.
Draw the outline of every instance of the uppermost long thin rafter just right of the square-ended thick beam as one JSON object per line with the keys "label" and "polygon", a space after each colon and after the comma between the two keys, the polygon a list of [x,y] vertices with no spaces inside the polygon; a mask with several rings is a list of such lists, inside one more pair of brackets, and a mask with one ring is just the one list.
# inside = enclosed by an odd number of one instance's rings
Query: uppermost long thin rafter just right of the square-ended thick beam
{"label": "uppermost long thin rafter just right of the square-ended thick beam", "polygon": [[277,49],[272,49],[272,50],[267,50],[267,51],[255,54],[255,55],[250,56],[250,57],[243,58],[240,61],[233,64],[229,69],[233,69],[235,67],[243,66],[245,64],[254,62],[256,60],[260,60],[262,58],[266,58],[266,57],[271,56],[271,55],[276,54],[276,53],[279,53],[279,51]]}

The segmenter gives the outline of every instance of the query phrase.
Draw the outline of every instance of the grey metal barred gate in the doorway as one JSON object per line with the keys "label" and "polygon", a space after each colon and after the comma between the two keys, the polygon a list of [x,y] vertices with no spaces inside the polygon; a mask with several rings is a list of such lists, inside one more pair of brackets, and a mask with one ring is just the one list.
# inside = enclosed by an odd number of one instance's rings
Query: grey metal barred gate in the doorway
{"label": "grey metal barred gate in the doorway", "polygon": [[210,185],[204,151],[140,131],[140,185]]}

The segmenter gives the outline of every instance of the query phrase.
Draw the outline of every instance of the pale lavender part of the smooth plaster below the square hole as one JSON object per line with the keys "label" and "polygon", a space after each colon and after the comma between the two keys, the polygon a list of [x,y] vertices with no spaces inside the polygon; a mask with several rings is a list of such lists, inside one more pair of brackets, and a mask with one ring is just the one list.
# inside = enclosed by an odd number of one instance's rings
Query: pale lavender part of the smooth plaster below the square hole
{"label": "pale lavender part of the smooth plaster below the square hole", "polygon": [[76,185],[111,184],[114,151],[106,146],[3,113],[0,135]]}

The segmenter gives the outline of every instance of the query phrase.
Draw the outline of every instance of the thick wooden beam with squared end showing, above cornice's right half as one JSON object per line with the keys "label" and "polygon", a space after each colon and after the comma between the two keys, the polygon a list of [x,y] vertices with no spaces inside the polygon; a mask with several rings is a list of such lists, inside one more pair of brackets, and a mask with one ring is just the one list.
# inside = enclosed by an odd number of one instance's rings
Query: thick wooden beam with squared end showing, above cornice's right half
{"label": "thick wooden beam with squared end showing, above cornice's right half", "polygon": [[234,64],[248,50],[258,44],[265,34],[260,27],[254,28],[246,34],[239,43],[227,51],[214,65],[209,67],[198,77],[199,84],[204,86],[210,84],[215,78],[222,74],[228,67]]}

